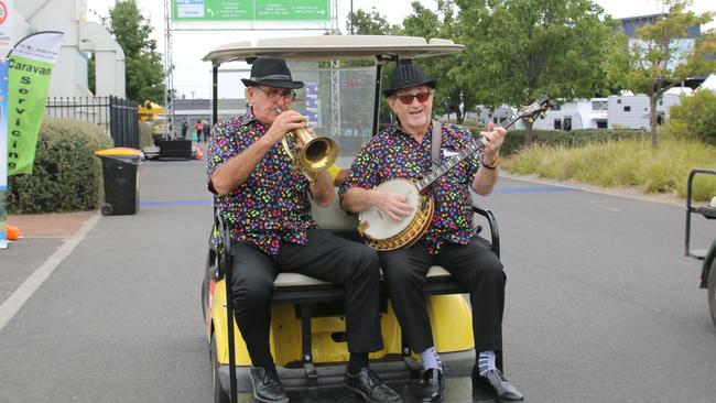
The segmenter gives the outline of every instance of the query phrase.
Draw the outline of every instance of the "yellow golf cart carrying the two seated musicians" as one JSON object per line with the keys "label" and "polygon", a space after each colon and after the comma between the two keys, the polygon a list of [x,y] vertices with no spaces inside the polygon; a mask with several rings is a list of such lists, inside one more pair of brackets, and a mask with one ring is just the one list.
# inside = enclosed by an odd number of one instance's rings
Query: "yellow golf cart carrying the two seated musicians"
{"label": "yellow golf cart carrying the two seated musicians", "polygon": [[[299,90],[293,109],[308,117],[318,137],[330,137],[340,152],[336,161],[347,168],[352,156],[378,132],[380,77],[383,66],[405,58],[446,55],[460,52],[452,41],[410,36],[302,36],[231,43],[208,53],[214,77],[214,122],[218,120],[219,66],[256,57],[283,57],[293,78],[306,83]],[[337,67],[332,61],[369,61],[358,67]],[[340,171],[336,168],[334,171]],[[474,207],[485,238],[499,255],[499,235],[489,210]],[[313,207],[322,228],[361,241],[358,219],[343,211],[338,198],[327,208]],[[206,274],[202,284],[202,305],[206,338],[213,364],[214,401],[236,402],[237,392],[250,392],[250,360],[236,327],[231,304],[231,257],[227,225],[215,214],[209,239]],[[297,273],[281,273],[274,282],[271,350],[279,375],[289,390],[339,384],[348,360],[344,291]],[[433,266],[425,293],[435,345],[448,377],[468,375],[475,363],[470,307],[459,286],[443,268]],[[228,296],[228,297],[227,297]],[[390,295],[381,284],[381,331],[384,349],[370,355],[371,368],[386,381],[416,379],[421,368],[417,357],[402,339],[393,314]],[[498,363],[501,366],[501,363]]]}

